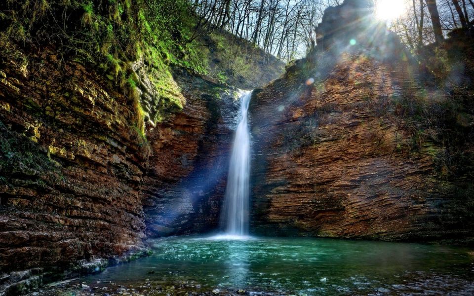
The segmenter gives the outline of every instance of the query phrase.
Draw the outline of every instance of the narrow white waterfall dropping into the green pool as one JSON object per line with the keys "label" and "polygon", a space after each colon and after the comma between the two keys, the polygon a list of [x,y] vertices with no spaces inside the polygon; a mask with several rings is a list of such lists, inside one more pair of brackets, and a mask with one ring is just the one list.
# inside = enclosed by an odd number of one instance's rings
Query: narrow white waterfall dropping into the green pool
{"label": "narrow white waterfall dropping into the green pool", "polygon": [[243,236],[248,232],[248,194],[250,172],[250,132],[247,123],[248,103],[252,92],[240,97],[242,118],[237,126],[236,138],[232,147],[229,176],[222,221],[227,235]]}

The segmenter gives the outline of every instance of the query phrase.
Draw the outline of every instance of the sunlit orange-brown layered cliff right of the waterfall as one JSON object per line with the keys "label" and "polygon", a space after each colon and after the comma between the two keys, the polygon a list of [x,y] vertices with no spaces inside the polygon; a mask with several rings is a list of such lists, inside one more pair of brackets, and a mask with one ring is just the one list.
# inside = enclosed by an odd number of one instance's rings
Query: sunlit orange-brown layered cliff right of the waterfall
{"label": "sunlit orange-brown layered cliff right of the waterfall", "polygon": [[[384,40],[379,48],[390,46]],[[401,116],[417,100],[441,99],[439,91],[419,85],[403,54],[389,63],[379,53],[367,44],[319,49],[256,92],[250,106],[255,233],[472,236],[469,215],[462,214],[469,198],[435,164],[444,148],[426,141],[412,149],[417,140]]]}

